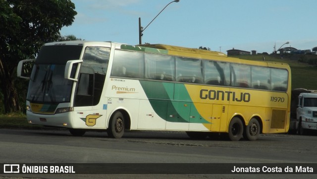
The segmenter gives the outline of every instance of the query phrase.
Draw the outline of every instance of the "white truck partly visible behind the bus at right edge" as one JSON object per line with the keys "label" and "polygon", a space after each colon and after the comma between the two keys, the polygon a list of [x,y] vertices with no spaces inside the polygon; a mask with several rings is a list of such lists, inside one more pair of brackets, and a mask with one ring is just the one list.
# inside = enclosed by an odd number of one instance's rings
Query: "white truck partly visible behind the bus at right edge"
{"label": "white truck partly visible behind the bus at right edge", "polygon": [[296,110],[297,133],[303,135],[307,130],[317,130],[317,93],[310,91],[298,96]]}

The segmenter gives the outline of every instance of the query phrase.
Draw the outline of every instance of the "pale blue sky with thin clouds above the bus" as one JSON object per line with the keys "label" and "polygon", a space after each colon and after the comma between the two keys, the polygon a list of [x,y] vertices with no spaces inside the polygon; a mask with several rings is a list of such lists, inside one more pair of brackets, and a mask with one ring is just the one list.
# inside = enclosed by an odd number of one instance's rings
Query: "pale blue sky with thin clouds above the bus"
{"label": "pale blue sky with thin clouds above the bus", "polygon": [[[61,35],[139,44],[146,27],[173,0],[71,0],[77,15]],[[142,43],[188,48],[256,50],[317,47],[317,0],[180,0],[144,30]],[[289,44],[285,44],[289,42]],[[285,44],[285,45],[283,45]]]}

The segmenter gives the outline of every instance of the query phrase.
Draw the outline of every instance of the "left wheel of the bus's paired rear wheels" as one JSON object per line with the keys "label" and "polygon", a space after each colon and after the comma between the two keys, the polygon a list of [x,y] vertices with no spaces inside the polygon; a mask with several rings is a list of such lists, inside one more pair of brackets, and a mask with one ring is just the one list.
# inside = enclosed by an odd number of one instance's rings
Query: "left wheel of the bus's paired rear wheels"
{"label": "left wheel of the bus's paired rear wheels", "polygon": [[228,128],[228,137],[231,141],[238,141],[243,135],[243,123],[241,119],[234,117],[231,119]]}

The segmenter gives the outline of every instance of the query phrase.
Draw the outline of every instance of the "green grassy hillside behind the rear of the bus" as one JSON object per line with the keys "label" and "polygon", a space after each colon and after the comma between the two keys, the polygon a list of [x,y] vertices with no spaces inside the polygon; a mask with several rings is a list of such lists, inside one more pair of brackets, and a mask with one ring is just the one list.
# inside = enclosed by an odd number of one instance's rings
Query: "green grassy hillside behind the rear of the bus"
{"label": "green grassy hillside behind the rear of the bus", "polygon": [[291,67],[292,89],[305,88],[317,90],[317,55],[245,55],[234,56],[245,60],[263,60],[287,63]]}

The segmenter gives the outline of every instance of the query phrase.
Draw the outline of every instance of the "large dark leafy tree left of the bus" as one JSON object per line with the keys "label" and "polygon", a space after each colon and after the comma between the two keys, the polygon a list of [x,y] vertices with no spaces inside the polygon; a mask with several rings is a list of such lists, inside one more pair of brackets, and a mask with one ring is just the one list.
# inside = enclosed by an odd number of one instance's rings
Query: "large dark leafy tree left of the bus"
{"label": "large dark leafy tree left of the bus", "polygon": [[33,59],[44,43],[60,37],[77,12],[71,0],[0,0],[0,89],[4,111],[20,111],[16,86],[18,61]]}

